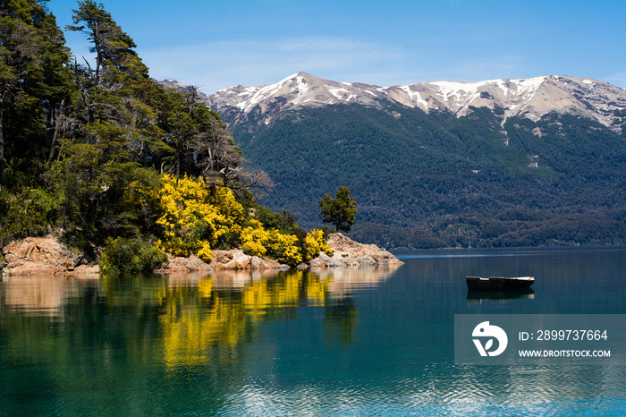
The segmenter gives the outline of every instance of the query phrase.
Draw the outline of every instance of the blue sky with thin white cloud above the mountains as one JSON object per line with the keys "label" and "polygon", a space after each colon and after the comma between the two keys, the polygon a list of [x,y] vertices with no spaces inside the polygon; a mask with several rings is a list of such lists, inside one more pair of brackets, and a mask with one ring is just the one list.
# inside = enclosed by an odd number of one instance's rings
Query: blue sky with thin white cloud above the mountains
{"label": "blue sky with thin white cloud above the mountains", "polygon": [[[626,88],[626,1],[104,0],[157,80],[206,93],[299,71],[380,86],[572,75]],[[59,26],[76,1],[47,4]],[[67,33],[79,57],[86,38]]]}

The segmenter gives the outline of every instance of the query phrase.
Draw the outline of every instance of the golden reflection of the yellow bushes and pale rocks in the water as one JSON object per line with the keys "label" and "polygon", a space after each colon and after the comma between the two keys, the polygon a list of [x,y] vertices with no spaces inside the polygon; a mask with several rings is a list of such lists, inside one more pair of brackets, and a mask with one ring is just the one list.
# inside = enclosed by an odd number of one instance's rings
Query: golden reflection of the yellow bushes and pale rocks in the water
{"label": "golden reflection of the yellow bushes and pale rocks in the water", "polygon": [[342,269],[263,277],[226,271],[195,281],[180,279],[177,285],[170,285],[159,317],[164,361],[169,369],[210,362],[216,348],[233,348],[264,321],[292,318],[290,311],[300,305],[325,307],[325,325],[341,325],[326,333],[339,332],[343,342],[350,342],[358,322],[357,310],[353,303],[346,309],[342,300],[362,286],[376,285],[390,273],[385,269]]}

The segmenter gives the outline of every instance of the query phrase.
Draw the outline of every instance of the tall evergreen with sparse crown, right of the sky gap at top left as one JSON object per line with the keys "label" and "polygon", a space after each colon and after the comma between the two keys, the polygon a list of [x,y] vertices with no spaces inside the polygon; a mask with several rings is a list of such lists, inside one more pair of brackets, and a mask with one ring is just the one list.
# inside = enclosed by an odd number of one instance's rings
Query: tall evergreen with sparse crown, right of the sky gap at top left
{"label": "tall evergreen with sparse crown, right of the sky gap at top left", "polygon": [[96,64],[73,65],[79,129],[63,140],[63,214],[75,239],[98,243],[112,234],[139,232],[138,217],[146,208],[126,203],[129,193],[156,186],[156,173],[144,166],[144,145],[162,132],[152,103],[156,83],[132,38],[103,4],[79,2],[73,12],[74,25],[67,29],[87,35]]}

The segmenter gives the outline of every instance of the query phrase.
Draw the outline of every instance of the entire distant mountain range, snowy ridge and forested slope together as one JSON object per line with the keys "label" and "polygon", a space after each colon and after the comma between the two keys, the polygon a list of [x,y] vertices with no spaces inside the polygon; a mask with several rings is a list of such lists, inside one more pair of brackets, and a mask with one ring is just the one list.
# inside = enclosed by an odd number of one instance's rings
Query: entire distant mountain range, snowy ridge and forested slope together
{"label": "entire distant mountain range, snowy ridge and forested slope together", "polygon": [[274,180],[261,202],[302,226],[347,185],[352,237],[386,247],[626,243],[626,91],[605,82],[378,87],[298,72],[206,102]]}

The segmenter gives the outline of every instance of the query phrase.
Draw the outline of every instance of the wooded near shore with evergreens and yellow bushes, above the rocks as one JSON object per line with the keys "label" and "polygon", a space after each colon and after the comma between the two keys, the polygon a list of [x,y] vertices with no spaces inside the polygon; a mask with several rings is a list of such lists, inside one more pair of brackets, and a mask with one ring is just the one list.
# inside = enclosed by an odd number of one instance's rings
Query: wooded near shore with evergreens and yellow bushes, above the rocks
{"label": "wooded near shore with evergreens and yellow bushes, above the rocks", "polygon": [[72,56],[44,1],[0,2],[0,245],[54,230],[86,262],[132,271],[165,251],[241,247],[290,265],[329,251],[258,205],[266,174],[197,89],[150,78],[103,4],[78,2],[72,21],[93,60]]}

